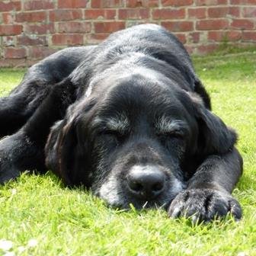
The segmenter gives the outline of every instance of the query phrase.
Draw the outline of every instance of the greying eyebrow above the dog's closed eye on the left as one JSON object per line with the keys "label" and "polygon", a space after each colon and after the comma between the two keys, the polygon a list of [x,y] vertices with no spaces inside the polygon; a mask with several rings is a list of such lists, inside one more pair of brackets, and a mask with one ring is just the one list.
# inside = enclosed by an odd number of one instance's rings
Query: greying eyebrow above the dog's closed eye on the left
{"label": "greying eyebrow above the dog's closed eye on the left", "polygon": [[106,120],[107,129],[118,133],[126,133],[130,127],[130,121],[126,114],[117,114],[114,117],[107,118]]}

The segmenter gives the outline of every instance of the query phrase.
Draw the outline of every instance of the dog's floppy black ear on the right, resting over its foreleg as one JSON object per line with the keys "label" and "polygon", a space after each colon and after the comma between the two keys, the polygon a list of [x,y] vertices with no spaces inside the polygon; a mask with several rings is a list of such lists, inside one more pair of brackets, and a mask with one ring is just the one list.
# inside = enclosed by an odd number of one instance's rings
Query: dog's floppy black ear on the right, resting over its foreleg
{"label": "dog's floppy black ear on the right, resting over its foreleg", "polygon": [[222,154],[235,145],[237,135],[213,112],[208,110],[197,94],[189,93],[199,128],[198,152],[200,155]]}

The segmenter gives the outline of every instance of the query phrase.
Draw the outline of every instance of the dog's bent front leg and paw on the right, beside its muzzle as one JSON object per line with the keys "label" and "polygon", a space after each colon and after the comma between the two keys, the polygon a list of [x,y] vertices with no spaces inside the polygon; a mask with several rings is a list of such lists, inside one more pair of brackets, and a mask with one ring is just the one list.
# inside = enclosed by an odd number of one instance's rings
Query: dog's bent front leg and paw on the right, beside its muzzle
{"label": "dog's bent front leg and paw on the right, beside its muzzle", "polygon": [[210,221],[231,213],[235,219],[241,219],[241,207],[231,196],[241,174],[242,157],[237,149],[209,156],[188,181],[187,190],[174,198],[169,216],[193,216],[194,221]]}

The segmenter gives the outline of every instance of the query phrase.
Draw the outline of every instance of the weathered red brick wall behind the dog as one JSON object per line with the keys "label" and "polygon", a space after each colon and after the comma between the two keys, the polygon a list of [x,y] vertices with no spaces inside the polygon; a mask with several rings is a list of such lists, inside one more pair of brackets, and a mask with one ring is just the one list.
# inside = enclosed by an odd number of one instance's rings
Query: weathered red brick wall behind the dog
{"label": "weathered red brick wall behind the dog", "polygon": [[173,31],[190,53],[256,44],[256,0],[0,0],[0,66],[27,66],[146,22]]}

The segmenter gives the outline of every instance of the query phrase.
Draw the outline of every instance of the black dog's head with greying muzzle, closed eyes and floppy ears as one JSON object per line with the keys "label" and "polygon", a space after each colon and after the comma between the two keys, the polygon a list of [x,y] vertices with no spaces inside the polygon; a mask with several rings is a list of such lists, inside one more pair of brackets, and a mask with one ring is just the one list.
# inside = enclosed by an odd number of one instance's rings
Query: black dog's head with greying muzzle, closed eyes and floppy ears
{"label": "black dog's head with greying muzzle, closed eyes and floppy ears", "polygon": [[53,126],[46,162],[66,184],[85,184],[112,206],[168,205],[186,186],[188,159],[235,143],[197,95],[169,79],[136,72],[92,88]]}

